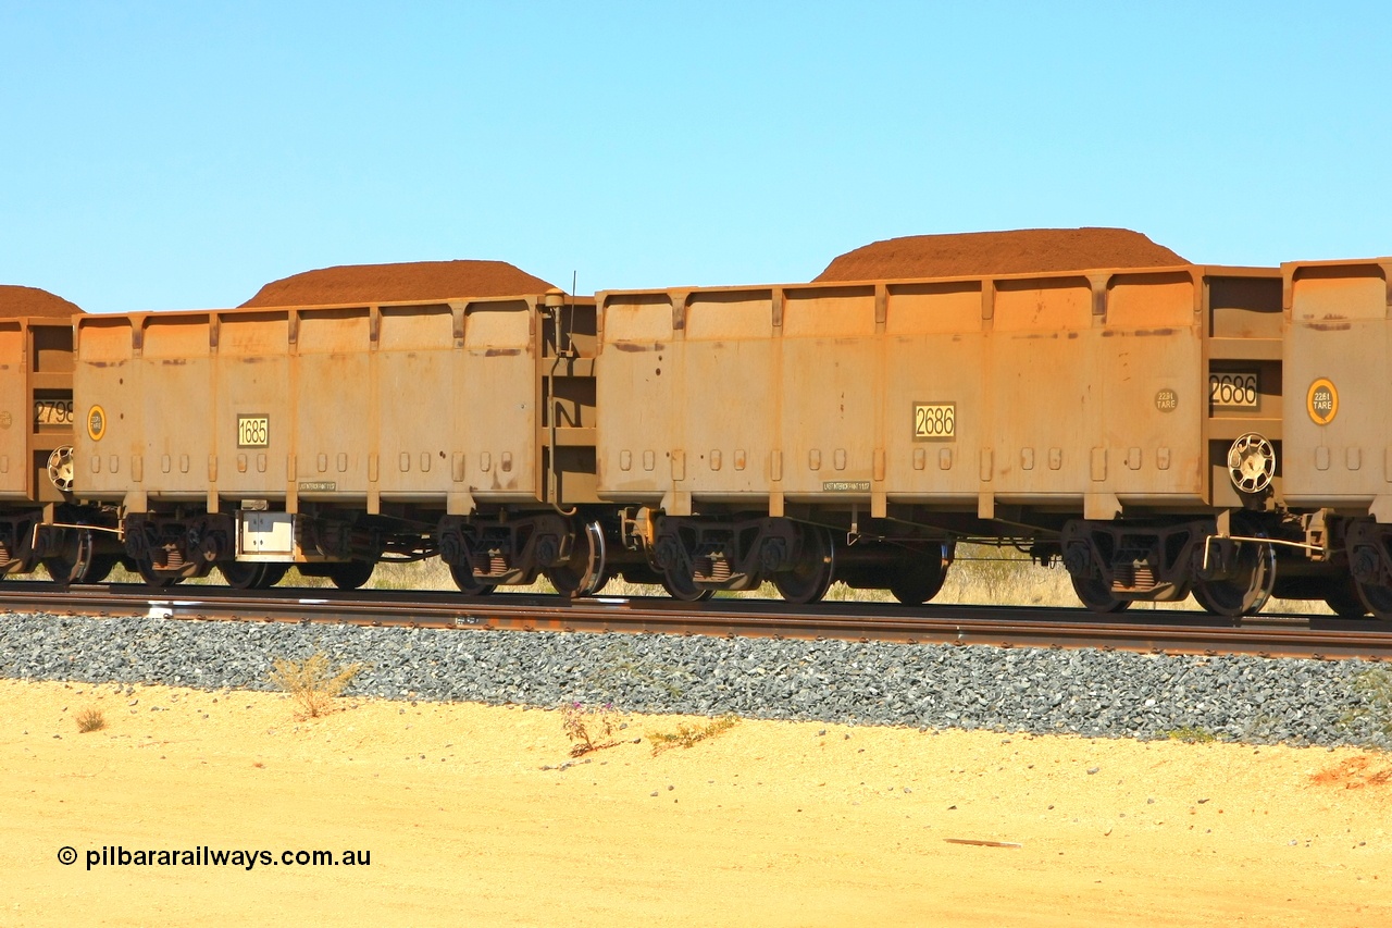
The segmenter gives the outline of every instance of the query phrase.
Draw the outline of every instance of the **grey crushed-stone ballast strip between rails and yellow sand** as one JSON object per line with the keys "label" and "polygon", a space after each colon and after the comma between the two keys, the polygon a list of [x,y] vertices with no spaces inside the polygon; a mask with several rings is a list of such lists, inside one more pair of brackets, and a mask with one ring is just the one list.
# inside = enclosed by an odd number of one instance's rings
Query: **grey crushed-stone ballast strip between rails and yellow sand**
{"label": "grey crushed-stone ballast strip between rails and yellow sand", "polygon": [[349,693],[625,712],[1386,748],[1361,660],[285,623],[0,617],[0,677],[270,690],[276,658],[363,662]]}

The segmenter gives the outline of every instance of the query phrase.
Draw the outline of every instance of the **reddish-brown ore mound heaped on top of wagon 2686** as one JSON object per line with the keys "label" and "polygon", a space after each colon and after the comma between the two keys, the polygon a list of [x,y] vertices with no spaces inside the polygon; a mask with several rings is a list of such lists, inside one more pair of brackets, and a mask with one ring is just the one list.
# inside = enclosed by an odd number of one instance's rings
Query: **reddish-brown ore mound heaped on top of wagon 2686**
{"label": "reddish-brown ore mound heaped on top of wagon 2686", "polygon": [[816,281],[884,277],[973,277],[1089,268],[1172,268],[1189,263],[1130,229],[1012,229],[906,235],[834,259]]}

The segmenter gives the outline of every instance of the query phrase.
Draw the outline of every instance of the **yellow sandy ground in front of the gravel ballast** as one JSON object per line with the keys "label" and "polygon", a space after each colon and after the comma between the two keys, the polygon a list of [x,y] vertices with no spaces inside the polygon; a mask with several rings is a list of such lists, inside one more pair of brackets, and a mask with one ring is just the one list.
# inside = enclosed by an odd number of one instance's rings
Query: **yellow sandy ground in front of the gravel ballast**
{"label": "yellow sandy ground in front of the gravel ballast", "polygon": [[0,925],[1392,924],[1381,755],[340,704],[0,681]]}

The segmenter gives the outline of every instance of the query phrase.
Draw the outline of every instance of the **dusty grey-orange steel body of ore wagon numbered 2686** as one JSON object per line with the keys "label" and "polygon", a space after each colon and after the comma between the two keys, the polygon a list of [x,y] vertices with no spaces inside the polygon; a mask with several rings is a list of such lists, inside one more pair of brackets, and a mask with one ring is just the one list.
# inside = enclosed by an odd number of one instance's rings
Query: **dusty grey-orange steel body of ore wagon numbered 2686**
{"label": "dusty grey-orange steel body of ore wagon numbered 2686", "polygon": [[[1201,266],[601,293],[600,495],[1199,509],[1210,444],[1279,432],[1279,294]],[[1250,401],[1211,400],[1229,369]]]}

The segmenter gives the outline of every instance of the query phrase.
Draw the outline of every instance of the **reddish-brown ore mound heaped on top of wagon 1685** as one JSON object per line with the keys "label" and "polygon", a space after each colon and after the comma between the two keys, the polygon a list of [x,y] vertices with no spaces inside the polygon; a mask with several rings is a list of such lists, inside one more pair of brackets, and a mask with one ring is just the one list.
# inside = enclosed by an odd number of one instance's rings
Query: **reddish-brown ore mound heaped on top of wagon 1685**
{"label": "reddish-brown ore mound heaped on top of wagon 1685", "polygon": [[340,265],[291,274],[262,287],[244,307],[515,297],[555,287],[504,261],[418,261]]}

